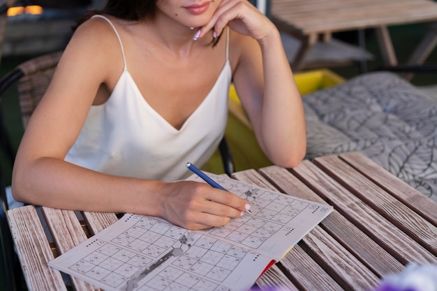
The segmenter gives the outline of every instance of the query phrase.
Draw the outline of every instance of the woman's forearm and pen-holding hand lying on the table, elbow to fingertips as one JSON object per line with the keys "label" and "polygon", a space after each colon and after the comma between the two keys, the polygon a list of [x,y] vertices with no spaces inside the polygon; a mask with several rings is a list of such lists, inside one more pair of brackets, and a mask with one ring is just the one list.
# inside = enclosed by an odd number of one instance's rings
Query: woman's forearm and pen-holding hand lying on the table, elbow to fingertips
{"label": "woman's forearm and pen-holding hand lying on the table, elbow to fingertips", "polygon": [[53,157],[19,161],[14,168],[13,196],[66,210],[163,217],[193,230],[223,226],[249,207],[246,200],[207,183],[105,175]]}

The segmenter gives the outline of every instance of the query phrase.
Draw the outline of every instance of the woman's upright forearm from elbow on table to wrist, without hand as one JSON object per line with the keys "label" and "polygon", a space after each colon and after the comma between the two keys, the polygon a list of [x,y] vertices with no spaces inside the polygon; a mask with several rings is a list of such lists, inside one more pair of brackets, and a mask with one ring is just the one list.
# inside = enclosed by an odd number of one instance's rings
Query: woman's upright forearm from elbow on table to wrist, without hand
{"label": "woman's upright forearm from elbow on table to wrist, without hand", "polygon": [[306,126],[302,98],[288,63],[279,31],[260,42],[264,97],[260,139],[275,164],[295,166],[305,155]]}

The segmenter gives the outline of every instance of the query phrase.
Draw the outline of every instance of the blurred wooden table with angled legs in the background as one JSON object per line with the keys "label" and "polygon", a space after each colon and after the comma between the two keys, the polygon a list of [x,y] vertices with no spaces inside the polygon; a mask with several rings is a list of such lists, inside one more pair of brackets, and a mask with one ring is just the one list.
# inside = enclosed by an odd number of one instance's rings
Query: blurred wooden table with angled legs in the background
{"label": "blurred wooden table with angled legs in the background", "polygon": [[[397,65],[387,26],[437,21],[437,3],[432,0],[271,0],[270,16],[281,31],[302,40],[292,61],[301,70],[317,40],[328,42],[333,32],[376,29],[385,65]],[[408,60],[423,63],[437,43],[433,24]]]}

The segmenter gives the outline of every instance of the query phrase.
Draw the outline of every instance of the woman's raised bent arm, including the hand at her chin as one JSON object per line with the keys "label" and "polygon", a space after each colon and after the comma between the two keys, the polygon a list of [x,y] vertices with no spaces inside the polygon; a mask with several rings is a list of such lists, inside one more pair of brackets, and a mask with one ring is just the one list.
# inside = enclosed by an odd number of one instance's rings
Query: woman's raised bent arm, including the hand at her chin
{"label": "woman's raised bent arm, including the hand at her chin", "polygon": [[225,25],[239,33],[231,38],[233,81],[260,148],[274,164],[296,166],[306,151],[304,109],[278,29],[248,1],[224,0],[200,36]]}

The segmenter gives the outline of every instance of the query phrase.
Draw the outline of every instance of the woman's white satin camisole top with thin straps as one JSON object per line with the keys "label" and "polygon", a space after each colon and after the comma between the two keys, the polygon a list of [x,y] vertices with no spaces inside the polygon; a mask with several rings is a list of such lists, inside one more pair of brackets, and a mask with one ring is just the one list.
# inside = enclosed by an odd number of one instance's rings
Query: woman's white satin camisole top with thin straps
{"label": "woman's white satin camisole top with thin straps", "polygon": [[[175,129],[140,93],[128,72],[119,40],[124,70],[104,104],[91,106],[87,120],[65,160],[84,168],[131,178],[181,180],[191,172],[185,164],[202,166],[220,143],[228,119],[228,91],[232,72],[226,31],[225,64],[205,100]],[[110,60],[108,60],[110,61]]]}

